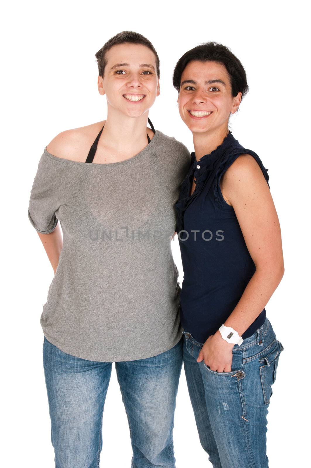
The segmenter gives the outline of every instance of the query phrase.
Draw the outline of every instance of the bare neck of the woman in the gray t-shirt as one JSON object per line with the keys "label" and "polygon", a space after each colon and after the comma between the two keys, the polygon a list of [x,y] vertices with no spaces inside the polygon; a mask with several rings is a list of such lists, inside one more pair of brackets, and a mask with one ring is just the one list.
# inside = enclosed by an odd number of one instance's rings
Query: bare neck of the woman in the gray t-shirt
{"label": "bare neck of the woman in the gray t-shirt", "polygon": [[103,130],[104,141],[115,148],[143,146],[147,143],[148,112],[139,117],[129,117],[110,108]]}

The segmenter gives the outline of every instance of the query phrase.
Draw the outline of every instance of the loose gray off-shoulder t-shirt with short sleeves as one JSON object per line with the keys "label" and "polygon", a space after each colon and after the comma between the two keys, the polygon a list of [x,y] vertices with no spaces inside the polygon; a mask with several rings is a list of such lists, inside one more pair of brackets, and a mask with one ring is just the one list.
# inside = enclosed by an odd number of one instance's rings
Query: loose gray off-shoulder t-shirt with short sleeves
{"label": "loose gray off-shoulder t-shirt with short sleeves", "polygon": [[61,351],[129,361],[169,350],[182,336],[174,234],[187,148],[156,131],[125,161],[69,161],[46,147],[28,217],[39,233],[58,221],[63,248],[40,323]]}

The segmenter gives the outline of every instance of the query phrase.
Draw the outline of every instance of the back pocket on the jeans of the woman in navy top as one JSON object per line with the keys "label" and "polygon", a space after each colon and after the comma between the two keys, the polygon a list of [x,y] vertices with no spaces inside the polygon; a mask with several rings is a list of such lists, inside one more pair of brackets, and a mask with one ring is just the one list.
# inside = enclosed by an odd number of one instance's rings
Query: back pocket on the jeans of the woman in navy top
{"label": "back pocket on the jeans of the woman in navy top", "polygon": [[265,405],[270,403],[272,385],[276,379],[276,368],[279,364],[279,357],[283,350],[284,348],[281,342],[276,340],[274,348],[272,350],[270,349],[266,356],[259,359],[260,364],[263,364],[263,366],[259,367],[259,371]]}

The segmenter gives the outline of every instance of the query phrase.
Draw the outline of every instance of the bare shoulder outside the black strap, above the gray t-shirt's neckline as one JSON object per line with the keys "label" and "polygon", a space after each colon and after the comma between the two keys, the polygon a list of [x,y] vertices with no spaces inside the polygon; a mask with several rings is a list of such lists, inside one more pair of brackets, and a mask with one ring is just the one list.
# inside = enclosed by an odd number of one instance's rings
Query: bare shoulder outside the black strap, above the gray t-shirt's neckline
{"label": "bare shoulder outside the black strap, above the gray t-shirt's neckline", "polygon": [[104,123],[105,120],[60,132],[46,146],[46,150],[58,158],[84,162],[89,154],[89,148],[92,146]]}

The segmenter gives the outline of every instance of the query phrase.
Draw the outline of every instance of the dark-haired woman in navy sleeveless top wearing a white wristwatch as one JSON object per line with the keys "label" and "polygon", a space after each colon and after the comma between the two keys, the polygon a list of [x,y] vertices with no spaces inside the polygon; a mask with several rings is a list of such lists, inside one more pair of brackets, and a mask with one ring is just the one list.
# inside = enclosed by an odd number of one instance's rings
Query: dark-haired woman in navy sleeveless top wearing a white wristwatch
{"label": "dark-haired woman in navy sleeveless top wearing a white wristwatch", "polygon": [[248,91],[222,44],[186,52],[173,75],[194,153],[176,209],[184,269],[184,367],[215,468],[266,468],[267,412],[283,347],[265,306],[284,273],[267,169],[228,129]]}

